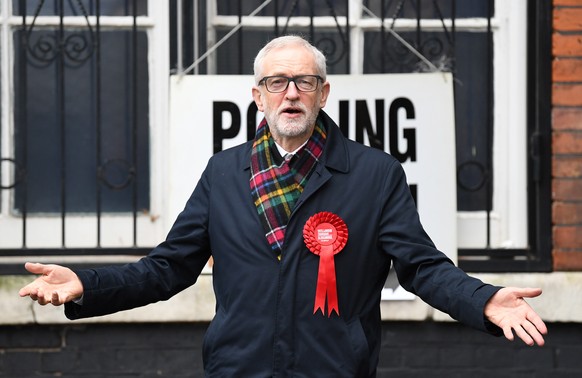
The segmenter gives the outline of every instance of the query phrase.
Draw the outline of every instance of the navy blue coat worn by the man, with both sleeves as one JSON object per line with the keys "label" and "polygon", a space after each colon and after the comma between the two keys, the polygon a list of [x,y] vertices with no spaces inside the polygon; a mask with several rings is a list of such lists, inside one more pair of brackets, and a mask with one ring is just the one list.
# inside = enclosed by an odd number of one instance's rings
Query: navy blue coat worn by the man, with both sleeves
{"label": "navy blue coat worn by the man, with both sleeves", "polygon": [[[249,188],[252,142],[213,156],[166,241],[137,263],[77,271],[84,303],[71,319],[165,300],[194,284],[214,258],[216,315],[204,340],[208,376],[369,377],[380,350],[380,293],[390,263],[402,286],[474,328],[498,288],[467,276],[423,230],[401,165],[346,139],[321,112],[328,137],[287,226],[281,261]],[[453,205],[453,204],[452,204]],[[302,231],[329,211],[347,224],[335,255],[339,313],[313,313],[319,257]]]}

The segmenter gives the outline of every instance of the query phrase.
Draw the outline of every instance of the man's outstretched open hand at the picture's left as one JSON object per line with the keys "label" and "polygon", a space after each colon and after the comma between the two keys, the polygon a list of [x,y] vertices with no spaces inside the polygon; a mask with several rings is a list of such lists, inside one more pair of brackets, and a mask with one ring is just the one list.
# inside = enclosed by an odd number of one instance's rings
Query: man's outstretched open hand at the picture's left
{"label": "man's outstretched open hand at the picture's left", "polygon": [[20,289],[21,297],[29,296],[43,306],[60,306],[83,295],[83,284],[69,268],[35,263],[26,263],[24,268],[40,277]]}

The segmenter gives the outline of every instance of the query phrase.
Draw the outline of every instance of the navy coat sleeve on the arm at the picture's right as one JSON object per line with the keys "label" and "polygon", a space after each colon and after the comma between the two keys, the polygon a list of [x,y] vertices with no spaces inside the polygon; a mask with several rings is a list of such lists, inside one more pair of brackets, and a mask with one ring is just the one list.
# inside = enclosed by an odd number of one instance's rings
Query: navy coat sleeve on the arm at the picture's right
{"label": "navy coat sleeve on the arm at the picture's right", "polygon": [[420,223],[397,161],[388,169],[384,188],[380,245],[390,255],[402,287],[462,323],[498,334],[483,309],[500,288],[467,275],[436,249]]}

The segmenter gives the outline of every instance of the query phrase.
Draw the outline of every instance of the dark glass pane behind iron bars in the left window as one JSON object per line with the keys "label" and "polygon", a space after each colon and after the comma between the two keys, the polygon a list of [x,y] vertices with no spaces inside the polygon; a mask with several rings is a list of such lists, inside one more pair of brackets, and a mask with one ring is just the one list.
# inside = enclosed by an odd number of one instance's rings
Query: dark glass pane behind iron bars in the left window
{"label": "dark glass pane behind iron bars in the left window", "polygon": [[[57,31],[33,32],[29,46],[53,40]],[[88,33],[81,33],[87,38]],[[14,36],[19,46],[21,32]],[[48,36],[48,37],[47,37]],[[65,33],[72,37],[71,32]],[[79,37],[81,38],[81,37]],[[132,169],[138,178],[138,209],[149,208],[149,131],[147,36],[138,35],[137,120],[132,118],[133,66],[131,32],[101,34],[101,182],[102,210],[132,210]],[[31,50],[29,50],[31,51]],[[34,49],[32,49],[34,51]],[[15,62],[16,156],[26,153],[27,203],[29,213],[60,212],[63,206],[62,169],[65,171],[67,212],[95,212],[97,207],[97,124],[96,54],[87,52],[83,60],[64,59],[59,73],[58,53],[42,58],[27,54],[26,104],[19,103],[18,82],[24,71]],[[19,54],[15,54],[19,58]],[[60,98],[64,96],[64,104]],[[61,119],[61,106],[64,108]],[[26,112],[26,124],[19,112]],[[64,123],[62,137],[61,124]],[[133,167],[133,126],[137,125],[137,161]],[[23,140],[26,135],[26,140]],[[26,143],[26,146],[25,146]],[[64,152],[63,152],[64,151]],[[64,153],[64,162],[63,162]],[[23,209],[22,186],[16,188],[16,209]]]}

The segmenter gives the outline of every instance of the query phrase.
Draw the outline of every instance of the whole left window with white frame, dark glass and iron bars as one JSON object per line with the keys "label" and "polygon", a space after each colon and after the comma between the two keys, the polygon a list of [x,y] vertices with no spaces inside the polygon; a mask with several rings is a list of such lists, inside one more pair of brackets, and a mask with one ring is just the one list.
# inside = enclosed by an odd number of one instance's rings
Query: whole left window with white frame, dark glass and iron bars
{"label": "whole left window with white frame, dark glass and iron bars", "polygon": [[152,59],[168,54],[167,5],[12,0],[0,12],[0,254],[151,248],[167,228],[154,213],[168,69]]}

